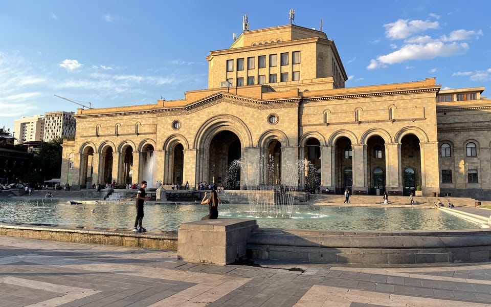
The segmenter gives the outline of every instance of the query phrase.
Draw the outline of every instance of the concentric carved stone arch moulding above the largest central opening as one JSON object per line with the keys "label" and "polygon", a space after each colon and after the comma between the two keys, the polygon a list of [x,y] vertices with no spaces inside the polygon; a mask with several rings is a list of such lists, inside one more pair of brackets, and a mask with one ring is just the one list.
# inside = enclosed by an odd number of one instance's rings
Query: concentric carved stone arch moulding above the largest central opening
{"label": "concentric carved stone arch moulding above the largest central opening", "polygon": [[208,119],[198,128],[194,148],[205,148],[220,131],[231,131],[237,135],[242,148],[252,147],[249,127],[238,117],[222,114]]}

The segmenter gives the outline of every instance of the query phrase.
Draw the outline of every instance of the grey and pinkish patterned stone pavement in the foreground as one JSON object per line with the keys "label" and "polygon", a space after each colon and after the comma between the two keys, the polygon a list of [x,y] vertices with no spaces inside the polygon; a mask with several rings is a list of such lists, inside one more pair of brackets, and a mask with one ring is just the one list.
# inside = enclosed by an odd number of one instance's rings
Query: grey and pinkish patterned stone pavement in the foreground
{"label": "grey and pinkish patterned stone pavement in the foreground", "polygon": [[174,251],[2,236],[0,306],[491,306],[491,262],[215,266]]}

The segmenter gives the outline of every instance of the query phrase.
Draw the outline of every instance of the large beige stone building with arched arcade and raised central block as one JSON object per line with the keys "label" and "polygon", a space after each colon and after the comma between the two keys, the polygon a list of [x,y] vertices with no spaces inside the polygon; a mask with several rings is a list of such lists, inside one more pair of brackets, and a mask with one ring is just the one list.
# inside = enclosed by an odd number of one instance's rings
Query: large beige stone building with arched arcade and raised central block
{"label": "large beige stone building with arched arcade and raised central block", "polygon": [[334,41],[296,25],[244,31],[207,60],[209,89],[182,100],[78,109],[61,183],[288,184],[354,194],[420,186],[423,195],[477,198],[491,190],[491,103],[482,87],[442,91],[427,78],[346,88]]}

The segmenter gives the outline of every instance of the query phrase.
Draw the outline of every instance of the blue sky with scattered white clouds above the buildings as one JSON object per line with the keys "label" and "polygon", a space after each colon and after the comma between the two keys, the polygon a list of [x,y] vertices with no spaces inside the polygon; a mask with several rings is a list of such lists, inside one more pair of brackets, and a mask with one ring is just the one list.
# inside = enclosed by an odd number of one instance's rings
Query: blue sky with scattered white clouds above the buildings
{"label": "blue sky with scattered white clouds above the buildings", "polygon": [[[232,33],[289,23],[336,43],[347,87],[436,77],[491,88],[491,2],[0,1],[0,127],[80,106],[152,104],[206,89],[212,50]],[[483,95],[491,97],[486,90]]]}

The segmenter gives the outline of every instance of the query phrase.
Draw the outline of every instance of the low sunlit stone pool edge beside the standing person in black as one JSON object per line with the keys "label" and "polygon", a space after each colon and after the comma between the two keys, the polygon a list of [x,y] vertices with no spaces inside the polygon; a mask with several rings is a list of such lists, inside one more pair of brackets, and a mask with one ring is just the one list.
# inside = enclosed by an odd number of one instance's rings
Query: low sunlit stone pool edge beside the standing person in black
{"label": "low sunlit stone pool edge beside the standing person in black", "polygon": [[176,231],[133,233],[120,230],[0,224],[0,235],[62,242],[177,250]]}

